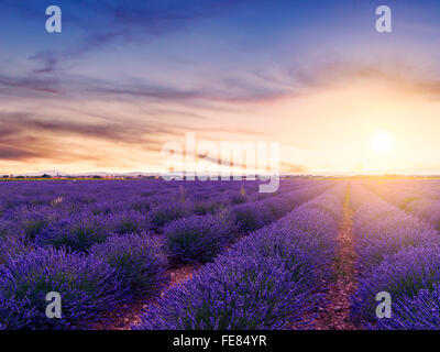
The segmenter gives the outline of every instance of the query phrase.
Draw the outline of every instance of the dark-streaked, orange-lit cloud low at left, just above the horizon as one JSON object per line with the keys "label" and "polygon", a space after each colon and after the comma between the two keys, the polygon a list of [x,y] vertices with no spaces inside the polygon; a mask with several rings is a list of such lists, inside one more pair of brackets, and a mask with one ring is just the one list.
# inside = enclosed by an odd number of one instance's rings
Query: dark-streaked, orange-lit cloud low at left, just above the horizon
{"label": "dark-streaked, orange-lit cloud low at left, just above the horizon", "polygon": [[[128,151],[144,151],[152,155],[151,153],[160,152],[164,142],[179,140],[187,131],[199,133],[212,131],[204,127],[191,128],[142,119],[128,121],[111,116],[108,116],[107,120],[99,118],[85,120],[80,110],[69,111],[70,116],[73,113],[81,119],[53,118],[56,112],[0,112],[0,160],[106,163],[112,157],[111,152],[101,150],[98,153],[95,145],[97,147],[107,145],[122,154]],[[75,143],[69,144],[66,141]],[[90,146],[94,151],[90,151]],[[121,161],[114,163],[121,165]]]}

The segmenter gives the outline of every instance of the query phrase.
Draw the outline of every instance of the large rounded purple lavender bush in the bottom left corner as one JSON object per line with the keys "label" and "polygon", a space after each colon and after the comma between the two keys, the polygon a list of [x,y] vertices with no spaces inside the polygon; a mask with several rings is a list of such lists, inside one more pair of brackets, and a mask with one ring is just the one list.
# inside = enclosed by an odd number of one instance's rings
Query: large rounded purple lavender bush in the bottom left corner
{"label": "large rounded purple lavender bush in the bottom left corner", "polygon": [[[45,315],[46,294],[62,296],[62,318]],[[130,298],[106,262],[36,248],[0,265],[0,323],[7,329],[89,328]]]}

